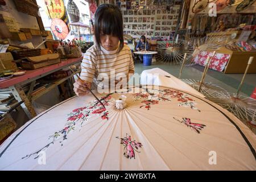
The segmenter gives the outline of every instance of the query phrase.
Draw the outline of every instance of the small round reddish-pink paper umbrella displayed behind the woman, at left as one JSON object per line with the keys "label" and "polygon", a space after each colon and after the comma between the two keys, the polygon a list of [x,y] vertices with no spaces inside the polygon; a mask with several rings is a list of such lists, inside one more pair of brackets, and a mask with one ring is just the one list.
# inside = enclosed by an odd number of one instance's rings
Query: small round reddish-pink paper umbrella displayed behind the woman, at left
{"label": "small round reddish-pink paper umbrella displayed behind the woman, at left", "polygon": [[51,30],[59,39],[65,39],[68,35],[67,24],[65,24],[65,22],[59,18],[52,19]]}

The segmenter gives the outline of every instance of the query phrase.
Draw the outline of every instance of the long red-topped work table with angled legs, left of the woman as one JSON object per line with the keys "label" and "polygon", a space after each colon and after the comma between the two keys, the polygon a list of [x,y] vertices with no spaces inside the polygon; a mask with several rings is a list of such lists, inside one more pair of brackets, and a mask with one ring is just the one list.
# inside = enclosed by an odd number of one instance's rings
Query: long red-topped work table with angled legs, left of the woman
{"label": "long red-topped work table with angled legs, left of the woman", "polygon": [[[82,60],[82,57],[63,60],[59,64],[53,64],[47,67],[27,71],[26,74],[23,76],[13,77],[8,80],[0,82],[0,89],[9,88],[11,90],[11,93],[13,93],[13,96],[18,102],[22,100],[24,101],[24,103],[21,106],[25,111],[25,113],[27,114],[28,118],[30,119],[34,118],[36,116],[36,113],[34,108],[31,105],[30,100],[31,100],[31,93],[35,85],[35,81],[53,72],[59,71],[60,69],[67,68],[69,65],[79,63],[81,60]],[[73,76],[73,74],[71,76]],[[68,76],[66,78],[63,78],[57,81],[54,85],[51,85],[50,88],[48,88],[46,91],[44,91],[39,95],[42,96],[44,93],[48,92],[55,86],[61,84],[61,82],[64,82],[65,80],[68,80],[68,78],[71,78],[71,76]],[[31,83],[31,85],[30,85],[30,90],[26,95],[22,88],[22,85],[28,84],[28,83]],[[38,97],[39,96],[36,96],[34,100]]]}

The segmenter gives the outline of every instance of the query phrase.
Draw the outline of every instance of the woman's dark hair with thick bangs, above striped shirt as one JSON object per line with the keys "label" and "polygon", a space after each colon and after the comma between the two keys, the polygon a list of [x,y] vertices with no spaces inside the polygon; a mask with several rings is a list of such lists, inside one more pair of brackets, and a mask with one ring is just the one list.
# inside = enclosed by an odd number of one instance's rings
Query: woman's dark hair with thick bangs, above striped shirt
{"label": "woman's dark hair with thick bangs, above striped shirt", "polygon": [[97,46],[100,47],[101,31],[106,35],[114,35],[119,39],[118,52],[123,48],[123,18],[118,6],[103,4],[98,7],[95,13],[94,35]]}

